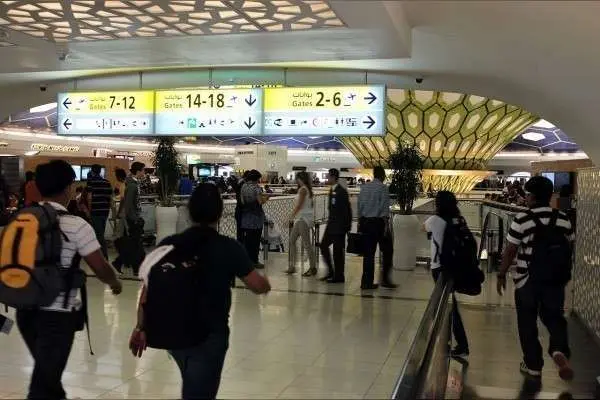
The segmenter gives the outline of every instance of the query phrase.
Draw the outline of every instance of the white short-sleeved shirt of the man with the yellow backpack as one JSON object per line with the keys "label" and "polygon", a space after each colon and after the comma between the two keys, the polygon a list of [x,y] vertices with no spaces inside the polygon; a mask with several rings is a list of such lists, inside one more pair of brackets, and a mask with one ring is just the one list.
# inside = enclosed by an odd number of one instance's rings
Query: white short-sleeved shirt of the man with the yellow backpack
{"label": "white short-sleeved shirt of the man with the yellow backpack", "polygon": [[[43,204],[43,203],[42,203]],[[55,210],[67,211],[62,205],[54,202],[48,202]],[[87,257],[100,249],[100,243],[96,239],[94,229],[83,218],[75,215],[61,215],[58,217],[58,223],[61,232],[69,239],[63,240],[60,253],[60,268],[69,269],[73,263],[76,254],[81,257]],[[46,311],[72,311],[81,308],[81,298],[79,289],[72,289],[69,293],[67,308],[64,308],[65,293],[61,293],[54,303],[48,307],[41,307]]]}

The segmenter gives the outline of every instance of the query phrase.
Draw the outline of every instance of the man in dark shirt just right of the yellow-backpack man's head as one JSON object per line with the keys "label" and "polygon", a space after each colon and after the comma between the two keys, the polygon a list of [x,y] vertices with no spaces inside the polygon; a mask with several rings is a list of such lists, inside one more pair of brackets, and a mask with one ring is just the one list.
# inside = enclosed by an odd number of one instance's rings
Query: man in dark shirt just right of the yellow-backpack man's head
{"label": "man in dark shirt just right of the yellow-backpack man's head", "polygon": [[110,213],[112,187],[110,186],[110,182],[100,175],[101,172],[102,166],[98,164],[92,165],[87,182],[88,201],[92,227],[102,247],[102,254],[104,254],[104,257],[108,257],[104,232],[106,231],[106,221]]}

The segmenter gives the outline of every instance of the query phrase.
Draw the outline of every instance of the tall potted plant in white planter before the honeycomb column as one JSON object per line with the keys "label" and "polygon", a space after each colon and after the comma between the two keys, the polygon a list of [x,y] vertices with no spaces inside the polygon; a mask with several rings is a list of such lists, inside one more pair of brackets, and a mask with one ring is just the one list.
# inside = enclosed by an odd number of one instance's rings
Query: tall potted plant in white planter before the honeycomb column
{"label": "tall potted plant in white planter before the honeycomb column", "polygon": [[394,215],[394,268],[413,270],[417,261],[420,224],[412,214],[419,194],[423,170],[423,156],[416,146],[399,144],[390,155],[392,169],[390,194],[395,196],[400,213]]}

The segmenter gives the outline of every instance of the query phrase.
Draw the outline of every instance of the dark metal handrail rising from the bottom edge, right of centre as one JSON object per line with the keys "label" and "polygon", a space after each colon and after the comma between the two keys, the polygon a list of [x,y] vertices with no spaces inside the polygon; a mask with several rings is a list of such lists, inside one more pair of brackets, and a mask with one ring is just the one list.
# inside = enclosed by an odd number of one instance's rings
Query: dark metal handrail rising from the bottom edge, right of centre
{"label": "dark metal handrail rising from the bottom edge, right of centre", "polygon": [[452,282],[438,279],[392,394],[393,400],[442,399],[448,384]]}

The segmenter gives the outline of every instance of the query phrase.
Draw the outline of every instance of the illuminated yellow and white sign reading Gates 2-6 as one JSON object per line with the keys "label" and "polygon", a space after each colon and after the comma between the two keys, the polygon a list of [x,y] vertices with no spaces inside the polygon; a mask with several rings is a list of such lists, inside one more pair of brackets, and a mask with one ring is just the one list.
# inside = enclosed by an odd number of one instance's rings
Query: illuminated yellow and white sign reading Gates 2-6
{"label": "illuminated yellow and white sign reading Gates 2-6", "polygon": [[267,136],[381,136],[385,86],[264,89]]}

